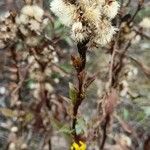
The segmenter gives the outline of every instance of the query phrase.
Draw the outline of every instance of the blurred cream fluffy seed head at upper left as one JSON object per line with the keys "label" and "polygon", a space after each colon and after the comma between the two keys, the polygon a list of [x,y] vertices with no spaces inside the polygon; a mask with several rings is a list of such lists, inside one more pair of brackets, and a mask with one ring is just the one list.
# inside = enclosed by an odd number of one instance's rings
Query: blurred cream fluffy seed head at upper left
{"label": "blurred cream fluffy seed head at upper left", "polygon": [[[21,13],[16,16],[15,22],[24,36],[28,36],[30,31],[40,34],[46,26],[46,22],[43,21],[43,15],[44,10],[39,6],[25,5],[21,9]],[[29,40],[27,41],[32,43]]]}

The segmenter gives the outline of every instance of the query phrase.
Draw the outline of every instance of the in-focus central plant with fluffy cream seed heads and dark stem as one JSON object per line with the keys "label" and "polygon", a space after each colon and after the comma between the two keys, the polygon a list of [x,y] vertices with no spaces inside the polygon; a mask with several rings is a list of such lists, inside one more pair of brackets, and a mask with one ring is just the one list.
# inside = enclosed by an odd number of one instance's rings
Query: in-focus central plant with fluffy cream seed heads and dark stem
{"label": "in-focus central plant with fluffy cream seed heads and dark stem", "polygon": [[[85,71],[87,50],[105,46],[112,40],[117,28],[112,26],[111,20],[117,15],[119,3],[115,0],[53,0],[50,9],[65,26],[70,28],[71,37],[78,48],[79,57],[72,56],[78,79],[77,90],[73,91],[76,96],[73,100],[75,102],[73,103],[72,129],[74,140],[79,143],[80,137],[77,134],[76,125],[78,109],[87,90],[85,86],[88,83]],[[92,80],[94,78],[91,82]]]}

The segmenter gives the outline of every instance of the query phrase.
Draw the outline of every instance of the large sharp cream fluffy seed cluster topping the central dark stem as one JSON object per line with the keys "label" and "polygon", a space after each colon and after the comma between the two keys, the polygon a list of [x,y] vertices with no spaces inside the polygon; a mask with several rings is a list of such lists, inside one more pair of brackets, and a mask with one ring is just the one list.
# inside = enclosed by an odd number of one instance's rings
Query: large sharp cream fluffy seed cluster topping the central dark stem
{"label": "large sharp cream fluffy seed cluster topping the central dark stem", "polygon": [[73,40],[88,40],[89,47],[105,46],[117,30],[111,24],[119,9],[116,0],[53,0],[50,7],[71,28]]}

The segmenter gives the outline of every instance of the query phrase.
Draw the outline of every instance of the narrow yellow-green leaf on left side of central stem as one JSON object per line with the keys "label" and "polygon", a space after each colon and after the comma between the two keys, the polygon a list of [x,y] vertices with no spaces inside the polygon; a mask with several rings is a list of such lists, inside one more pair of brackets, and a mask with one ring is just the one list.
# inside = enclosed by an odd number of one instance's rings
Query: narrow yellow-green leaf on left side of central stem
{"label": "narrow yellow-green leaf on left side of central stem", "polygon": [[77,101],[77,89],[74,87],[72,83],[69,83],[69,98],[71,99],[72,103],[75,104]]}

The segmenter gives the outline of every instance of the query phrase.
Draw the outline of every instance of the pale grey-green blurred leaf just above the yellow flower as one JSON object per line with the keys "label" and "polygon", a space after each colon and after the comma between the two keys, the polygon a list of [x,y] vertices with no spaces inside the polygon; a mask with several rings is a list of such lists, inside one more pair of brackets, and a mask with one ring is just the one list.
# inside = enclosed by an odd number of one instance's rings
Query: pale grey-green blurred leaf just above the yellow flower
{"label": "pale grey-green blurred leaf just above the yellow flower", "polygon": [[76,130],[76,134],[80,135],[80,134],[84,134],[87,130],[86,128],[86,122],[83,118],[79,118],[77,120],[77,124],[75,126],[75,130]]}

